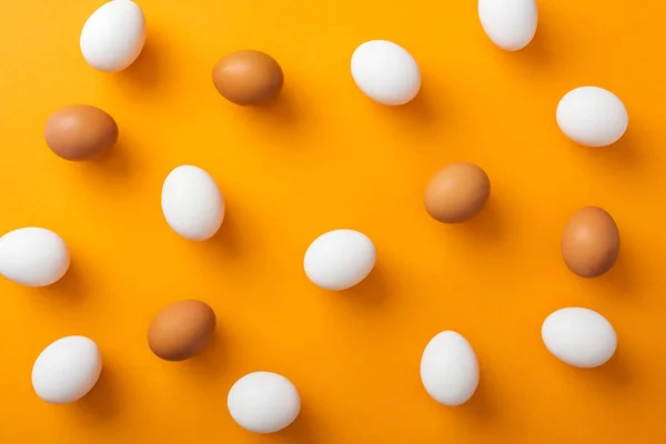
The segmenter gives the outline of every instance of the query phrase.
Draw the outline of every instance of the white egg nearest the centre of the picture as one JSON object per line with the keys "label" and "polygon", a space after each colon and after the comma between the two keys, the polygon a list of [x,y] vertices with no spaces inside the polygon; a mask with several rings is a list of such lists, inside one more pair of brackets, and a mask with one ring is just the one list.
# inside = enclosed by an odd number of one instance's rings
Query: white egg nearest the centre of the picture
{"label": "white egg nearest the centre of the picture", "polygon": [[326,290],[345,290],[363,281],[374,268],[375,246],[365,234],[334,230],[310,244],[303,261],[305,274]]}

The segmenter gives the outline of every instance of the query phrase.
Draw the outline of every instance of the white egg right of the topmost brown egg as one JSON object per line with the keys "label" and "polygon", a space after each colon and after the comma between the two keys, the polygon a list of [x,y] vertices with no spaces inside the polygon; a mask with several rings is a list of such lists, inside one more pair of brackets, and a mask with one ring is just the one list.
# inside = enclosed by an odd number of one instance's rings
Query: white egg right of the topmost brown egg
{"label": "white egg right of the topmost brown egg", "polygon": [[365,95],[389,105],[407,103],[421,89],[416,60],[404,48],[386,40],[371,40],[356,48],[352,77]]}

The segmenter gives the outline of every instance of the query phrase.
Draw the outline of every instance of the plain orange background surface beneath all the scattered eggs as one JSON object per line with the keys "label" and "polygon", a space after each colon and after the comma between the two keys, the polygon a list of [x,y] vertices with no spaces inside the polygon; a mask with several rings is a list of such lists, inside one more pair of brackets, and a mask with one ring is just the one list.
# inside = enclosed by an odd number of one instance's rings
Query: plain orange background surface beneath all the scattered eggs
{"label": "plain orange background surface beneath all the scattered eggs", "polygon": [[[60,6],[59,6],[60,4]],[[93,71],[79,33],[98,0],[9,1],[0,18],[0,232],[38,225],[63,236],[69,274],[46,289],[0,280],[2,443],[660,443],[666,440],[666,3],[544,0],[524,51],[495,48],[467,1],[143,0],[148,43],[119,74]],[[403,108],[354,85],[357,44],[389,39],[418,61],[423,89]],[[214,90],[225,53],[260,49],[286,84],[268,109]],[[595,84],[629,111],[616,145],[568,142],[555,108]],[[70,103],[110,112],[117,149],[69,163],[46,147],[47,118]],[[423,209],[441,167],[472,161],[493,183],[488,208],[446,226]],[[173,233],[162,181],[195,164],[226,200],[205,243]],[[616,268],[567,271],[559,233],[583,205],[622,233]],[[337,228],[366,233],[379,261],[366,282],[322,291],[303,254]],[[154,313],[210,303],[218,335],[183,363],[151,354]],[[559,307],[608,317],[618,352],[577,370],[542,344]],[[468,339],[481,385],[458,408],[423,390],[421,353],[442,330]],[[79,403],[37,397],[37,355],[61,336],[101,347],[98,386]],[[243,374],[269,370],[299,387],[301,417],[252,435],[226,412]]]}

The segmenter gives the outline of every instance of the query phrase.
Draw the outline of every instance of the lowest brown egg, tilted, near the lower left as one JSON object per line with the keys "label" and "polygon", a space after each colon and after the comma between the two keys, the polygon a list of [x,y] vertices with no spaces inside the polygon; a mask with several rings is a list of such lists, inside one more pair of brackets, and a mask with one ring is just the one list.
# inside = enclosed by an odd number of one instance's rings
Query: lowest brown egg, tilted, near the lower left
{"label": "lowest brown egg, tilted, near the lower left", "polygon": [[148,329],[148,345],[165,361],[183,361],[203,350],[215,330],[215,313],[194,300],[162,309]]}

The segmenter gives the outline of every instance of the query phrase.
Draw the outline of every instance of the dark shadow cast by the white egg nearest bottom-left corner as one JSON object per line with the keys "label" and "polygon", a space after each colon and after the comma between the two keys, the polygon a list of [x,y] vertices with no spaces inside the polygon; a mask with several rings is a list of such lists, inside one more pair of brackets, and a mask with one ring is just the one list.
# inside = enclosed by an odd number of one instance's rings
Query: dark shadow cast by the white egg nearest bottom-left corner
{"label": "dark shadow cast by the white egg nearest bottom-left corner", "polygon": [[121,411],[119,386],[114,379],[114,369],[103,362],[100,377],[92,390],[74,405],[94,422],[114,420]]}

